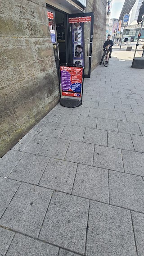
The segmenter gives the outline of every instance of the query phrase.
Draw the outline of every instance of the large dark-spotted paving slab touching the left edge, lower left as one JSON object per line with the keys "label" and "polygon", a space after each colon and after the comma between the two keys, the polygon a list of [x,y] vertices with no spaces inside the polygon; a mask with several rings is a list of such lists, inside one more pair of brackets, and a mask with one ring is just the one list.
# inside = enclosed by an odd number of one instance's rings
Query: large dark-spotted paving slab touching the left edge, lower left
{"label": "large dark-spotted paving slab touching the left edge, lower left", "polygon": [[0,219],[0,225],[38,237],[52,190],[22,183]]}

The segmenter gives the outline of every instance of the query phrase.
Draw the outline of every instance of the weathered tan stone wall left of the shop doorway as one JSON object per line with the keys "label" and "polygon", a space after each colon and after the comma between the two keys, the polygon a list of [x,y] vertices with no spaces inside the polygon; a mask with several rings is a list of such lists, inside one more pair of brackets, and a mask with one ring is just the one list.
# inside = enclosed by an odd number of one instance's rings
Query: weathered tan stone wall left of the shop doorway
{"label": "weathered tan stone wall left of the shop doorway", "polygon": [[0,0],[0,156],[58,100],[45,0]]}

